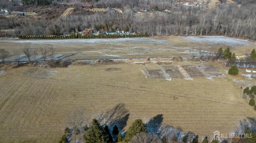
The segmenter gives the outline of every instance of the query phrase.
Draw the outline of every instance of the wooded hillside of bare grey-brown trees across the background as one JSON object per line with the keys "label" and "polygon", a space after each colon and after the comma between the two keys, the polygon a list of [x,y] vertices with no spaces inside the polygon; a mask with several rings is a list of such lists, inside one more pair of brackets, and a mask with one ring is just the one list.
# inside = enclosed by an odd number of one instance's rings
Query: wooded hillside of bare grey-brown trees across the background
{"label": "wooded hillside of bare grey-brown trees across the background", "polygon": [[[66,35],[90,28],[100,33],[131,31],[148,33],[149,36],[224,35],[250,40],[256,38],[256,4],[251,0],[229,4],[223,2],[214,8],[208,8],[208,4],[184,6],[178,0],[66,0],[61,5],[59,2],[22,0],[22,6],[16,6],[14,2],[13,10],[36,12],[38,16],[1,16],[0,27],[15,29],[5,31],[9,37]],[[8,2],[1,2],[1,7],[8,8],[10,4],[8,6]],[[68,7],[74,7],[72,14],[60,18]],[[122,13],[93,12],[92,8],[119,8]]]}

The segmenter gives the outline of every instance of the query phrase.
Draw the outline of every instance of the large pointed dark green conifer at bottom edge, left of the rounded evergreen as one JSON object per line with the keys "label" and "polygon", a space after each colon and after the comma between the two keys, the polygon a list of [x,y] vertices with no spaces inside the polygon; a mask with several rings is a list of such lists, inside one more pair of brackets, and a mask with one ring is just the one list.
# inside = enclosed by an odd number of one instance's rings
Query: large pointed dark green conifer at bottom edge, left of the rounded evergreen
{"label": "large pointed dark green conifer at bottom edge, left of the rounded evergreen", "polygon": [[100,126],[100,123],[96,119],[92,120],[92,126],[84,135],[84,141],[86,143],[107,143],[108,138],[104,132],[104,129]]}

